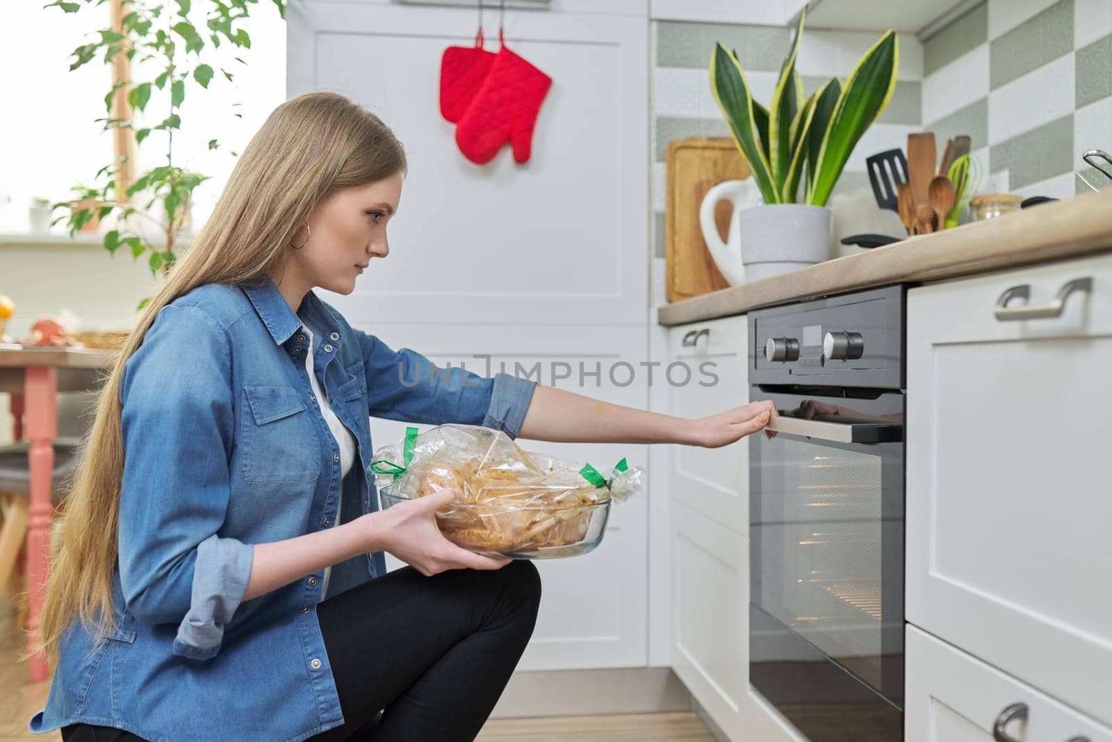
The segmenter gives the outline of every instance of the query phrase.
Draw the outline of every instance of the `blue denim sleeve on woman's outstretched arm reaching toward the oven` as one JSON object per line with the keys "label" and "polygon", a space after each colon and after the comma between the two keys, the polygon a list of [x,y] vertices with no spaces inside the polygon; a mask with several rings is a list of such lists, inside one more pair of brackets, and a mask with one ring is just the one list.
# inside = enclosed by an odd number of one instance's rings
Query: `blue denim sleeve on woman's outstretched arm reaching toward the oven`
{"label": "blue denim sleeve on woman's outstretched arm reaching toward the oven", "polygon": [[483,425],[516,438],[537,383],[512,374],[479,376],[461,366],[440,368],[409,348],[391,349],[354,330],[363,345],[373,417],[444,425]]}

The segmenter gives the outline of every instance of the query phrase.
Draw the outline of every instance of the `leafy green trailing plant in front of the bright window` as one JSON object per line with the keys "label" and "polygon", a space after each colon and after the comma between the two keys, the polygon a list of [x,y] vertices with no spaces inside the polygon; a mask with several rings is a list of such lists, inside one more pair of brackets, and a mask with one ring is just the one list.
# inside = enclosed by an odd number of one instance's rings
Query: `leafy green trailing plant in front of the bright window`
{"label": "leafy green trailing plant in front of the bright window", "polygon": [[[250,49],[251,38],[241,22],[259,0],[119,1],[122,6],[121,23],[92,31],[89,34],[91,40],[73,50],[69,69],[76,70],[98,58],[106,65],[112,65],[118,55],[123,55],[128,60],[126,69],[146,71],[149,79],[113,79],[111,89],[105,96],[107,116],[96,121],[102,123],[102,131],[128,130],[137,146],[158,147],[159,155],[165,152],[165,160],[145,172],[135,174],[133,181],[122,184],[122,166],[127,156],[113,158],[97,171],[92,185],[79,185],[71,189],[75,194],[72,200],[53,204],[56,209],[68,210],[68,215],[58,217],[54,224],[68,219],[70,235],[73,235],[92,219],[103,219],[113,211],[118,216],[117,224],[121,226],[131,224],[129,218],[133,215],[147,219],[160,233],[162,239],[158,241],[162,244],[158,247],[149,244],[155,240],[147,240],[138,234],[139,230],[127,227],[108,231],[103,244],[112,255],[120,248],[128,248],[132,259],[146,254],[151,273],[158,275],[173,265],[175,238],[187,218],[193,189],[208,178],[175,161],[173,135],[181,129],[181,105],[187,95],[208,89],[218,73],[228,82],[235,80],[235,73],[217,61],[216,50],[221,44],[237,48],[237,53],[244,53],[238,50]],[[270,1],[285,17],[285,0]],[[43,7],[76,13],[107,2],[109,0],[56,0]],[[237,56],[235,60],[246,65],[241,57]],[[112,101],[121,88],[128,106],[123,107],[122,115],[113,117]],[[120,113],[119,109],[117,113]],[[231,115],[240,117],[238,112]],[[219,147],[218,139],[209,140],[210,150]],[[231,155],[235,157],[237,154]],[[118,184],[126,185],[126,188],[118,188]],[[141,199],[146,202],[140,209],[135,204]],[[91,206],[81,206],[81,201]],[[153,219],[148,214],[156,204],[160,204],[165,211],[165,220]]]}

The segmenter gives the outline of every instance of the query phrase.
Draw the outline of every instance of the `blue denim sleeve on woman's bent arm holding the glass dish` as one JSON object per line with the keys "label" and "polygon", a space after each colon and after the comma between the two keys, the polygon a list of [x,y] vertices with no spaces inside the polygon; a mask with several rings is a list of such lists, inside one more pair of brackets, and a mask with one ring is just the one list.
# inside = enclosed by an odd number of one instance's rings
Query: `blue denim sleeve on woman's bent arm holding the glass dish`
{"label": "blue denim sleeve on woman's bent arm holding the glass dish", "polygon": [[234,439],[225,332],[202,309],[163,308],[125,366],[119,564],[127,609],[177,623],[175,654],[215,656],[242,600],[252,547],[222,537]]}

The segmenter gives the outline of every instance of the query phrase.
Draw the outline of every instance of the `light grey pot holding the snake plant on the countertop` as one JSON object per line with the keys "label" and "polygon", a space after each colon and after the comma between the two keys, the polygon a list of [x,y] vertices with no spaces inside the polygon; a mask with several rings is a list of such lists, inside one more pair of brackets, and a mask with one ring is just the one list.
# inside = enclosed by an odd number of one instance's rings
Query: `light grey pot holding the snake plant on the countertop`
{"label": "light grey pot holding the snake plant on the countertop", "polygon": [[831,211],[805,204],[768,204],[737,214],[745,280],[805,268],[831,257]]}

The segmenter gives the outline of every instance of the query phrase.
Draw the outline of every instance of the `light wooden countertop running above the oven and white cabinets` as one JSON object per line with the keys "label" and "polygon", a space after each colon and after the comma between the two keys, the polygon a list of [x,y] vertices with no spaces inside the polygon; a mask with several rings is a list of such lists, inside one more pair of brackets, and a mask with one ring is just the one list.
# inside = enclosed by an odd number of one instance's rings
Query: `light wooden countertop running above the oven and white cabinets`
{"label": "light wooden countertop running above the oven and white cabinets", "polygon": [[921,284],[1112,250],[1112,189],[910,237],[657,309],[662,325],[739,315],[894,284]]}

